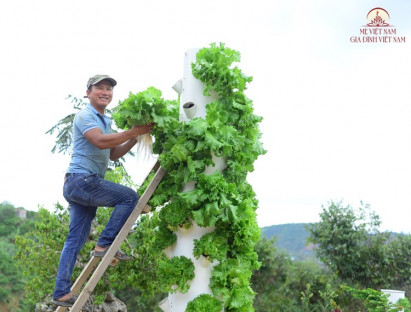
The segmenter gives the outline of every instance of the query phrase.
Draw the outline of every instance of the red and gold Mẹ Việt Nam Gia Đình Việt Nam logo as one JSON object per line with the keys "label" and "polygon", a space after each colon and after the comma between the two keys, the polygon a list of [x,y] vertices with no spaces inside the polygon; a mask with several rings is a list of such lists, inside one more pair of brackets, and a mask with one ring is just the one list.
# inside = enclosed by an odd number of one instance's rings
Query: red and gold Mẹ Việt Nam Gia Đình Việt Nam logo
{"label": "red and gold M\u1eb9 Vi\u1ec7t Nam Gia \u0110\u00ecnh Vi\u1ec7t Nam logo", "polygon": [[367,24],[360,28],[359,35],[351,36],[352,43],[405,43],[397,28],[390,24],[390,14],[383,8],[374,8],[366,16]]}

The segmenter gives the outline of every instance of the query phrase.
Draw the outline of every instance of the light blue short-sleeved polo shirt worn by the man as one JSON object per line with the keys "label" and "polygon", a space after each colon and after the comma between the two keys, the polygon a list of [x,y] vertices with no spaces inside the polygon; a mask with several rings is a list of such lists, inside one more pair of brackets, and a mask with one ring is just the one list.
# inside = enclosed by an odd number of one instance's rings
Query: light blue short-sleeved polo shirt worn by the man
{"label": "light blue short-sleeved polo shirt worn by the man", "polygon": [[97,173],[104,178],[110,149],[99,149],[86,139],[84,133],[94,128],[100,128],[103,134],[112,133],[110,118],[101,115],[89,103],[74,117],[73,155],[67,173]]}

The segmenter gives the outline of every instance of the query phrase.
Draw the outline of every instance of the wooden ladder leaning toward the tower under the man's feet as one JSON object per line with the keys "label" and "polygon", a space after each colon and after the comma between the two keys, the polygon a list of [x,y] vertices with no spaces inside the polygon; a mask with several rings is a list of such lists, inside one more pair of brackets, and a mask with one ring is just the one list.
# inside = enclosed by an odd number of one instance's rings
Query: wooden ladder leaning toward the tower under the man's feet
{"label": "wooden ladder leaning toward the tower under the man's feet", "polygon": [[[64,312],[64,311],[67,311],[67,309],[69,309],[70,312],[81,311],[81,308],[84,306],[84,304],[90,297],[91,293],[96,287],[98,281],[103,276],[104,272],[107,270],[108,266],[109,265],[114,266],[117,264],[118,260],[114,258],[117,250],[120,248],[121,243],[126,239],[132,226],[137,221],[137,218],[139,217],[139,215],[143,212],[149,199],[153,195],[155,189],[157,188],[161,179],[164,177],[165,170],[161,168],[159,162],[156,162],[153,168],[148,173],[145,180],[147,180],[149,174],[152,171],[156,172],[153,179],[151,180],[150,184],[148,185],[143,195],[141,195],[136,207],[134,208],[133,212],[128,217],[127,221],[124,223],[123,227],[121,228],[120,232],[117,234],[117,237],[114,239],[113,243],[110,245],[105,256],[103,258],[92,256],[89,262],[87,263],[87,265],[83,268],[83,271],[80,273],[75,283],[73,284],[71,288],[71,292],[73,295],[77,295],[80,292],[80,290],[83,288],[76,302],[73,304],[72,307],[59,306],[57,307],[55,312]],[[87,279],[92,273],[93,275],[90,277],[90,279],[87,282]],[[86,282],[87,284],[83,287],[83,285]]]}

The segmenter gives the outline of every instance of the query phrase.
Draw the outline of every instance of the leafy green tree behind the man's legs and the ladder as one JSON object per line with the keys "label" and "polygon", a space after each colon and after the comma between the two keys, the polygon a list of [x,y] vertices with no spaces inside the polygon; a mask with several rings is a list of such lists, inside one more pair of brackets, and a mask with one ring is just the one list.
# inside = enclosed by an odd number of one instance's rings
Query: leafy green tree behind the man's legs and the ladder
{"label": "leafy green tree behind the man's legs and the ladder", "polygon": [[[108,171],[106,179],[136,187],[122,167]],[[89,240],[77,259],[73,281],[90,259],[90,252],[107,223],[111,211],[112,208],[98,208]],[[161,254],[161,250],[156,251],[153,247],[155,243],[153,237],[158,220],[156,212],[152,213],[151,216],[140,218],[136,228],[121,247],[122,250],[133,255],[134,259],[123,262],[116,268],[109,268],[105,272],[93,293],[96,303],[104,300],[106,292],[127,293],[126,299],[132,302],[130,306],[144,307],[143,310],[149,307],[147,310],[155,311],[153,298],[158,298],[158,294],[161,293],[157,288],[156,268],[158,263],[166,257],[165,254]],[[56,204],[53,213],[40,208],[35,229],[16,237],[18,250],[16,258],[24,268],[23,274],[28,280],[26,283],[27,297],[33,304],[45,300],[53,292],[60,251],[68,233],[68,224],[67,209]],[[144,296],[140,297],[139,295],[142,293]],[[136,298],[138,299],[136,300]]]}

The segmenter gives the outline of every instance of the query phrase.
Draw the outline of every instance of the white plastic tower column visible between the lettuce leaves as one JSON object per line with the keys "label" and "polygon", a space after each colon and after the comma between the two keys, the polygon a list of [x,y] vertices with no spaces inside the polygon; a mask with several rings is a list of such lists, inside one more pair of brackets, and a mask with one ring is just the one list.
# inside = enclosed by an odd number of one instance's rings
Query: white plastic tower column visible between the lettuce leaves
{"label": "white plastic tower column visible between the lettuce leaves", "polygon": [[[180,122],[187,122],[195,117],[205,118],[206,105],[214,101],[217,97],[217,95],[213,93],[211,96],[204,96],[204,84],[194,78],[192,74],[191,63],[195,63],[198,51],[199,49],[191,49],[185,53],[183,79],[179,80],[173,86],[173,89],[180,94]],[[213,153],[211,154],[215,166],[205,169],[205,174],[207,175],[214,173],[216,170],[222,172],[226,167],[226,162],[223,158],[216,157]],[[195,181],[187,183],[183,187],[183,192],[194,190],[195,184]],[[189,282],[190,289],[187,293],[170,293],[169,296],[159,304],[159,307],[164,312],[184,312],[189,301],[201,294],[212,294],[209,286],[211,271],[218,262],[217,260],[210,262],[204,256],[196,259],[193,256],[193,249],[194,239],[200,239],[203,235],[213,231],[214,227],[200,227],[193,221],[193,225],[189,229],[179,227],[176,232],[177,242],[165,250],[167,256],[170,258],[185,256],[191,259],[195,267],[195,277]]]}

